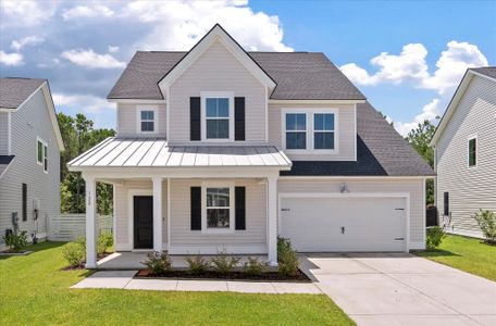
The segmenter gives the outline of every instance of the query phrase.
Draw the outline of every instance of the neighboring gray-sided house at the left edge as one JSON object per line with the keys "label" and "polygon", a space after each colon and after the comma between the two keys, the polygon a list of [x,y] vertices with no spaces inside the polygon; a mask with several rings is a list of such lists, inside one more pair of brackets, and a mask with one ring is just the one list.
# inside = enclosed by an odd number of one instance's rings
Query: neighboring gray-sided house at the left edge
{"label": "neighboring gray-sided house at the left edge", "polygon": [[35,234],[47,237],[48,216],[60,212],[63,149],[48,82],[0,78],[1,236],[17,228],[26,230],[29,240]]}

